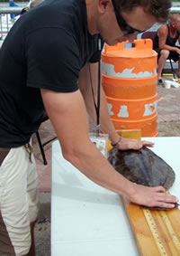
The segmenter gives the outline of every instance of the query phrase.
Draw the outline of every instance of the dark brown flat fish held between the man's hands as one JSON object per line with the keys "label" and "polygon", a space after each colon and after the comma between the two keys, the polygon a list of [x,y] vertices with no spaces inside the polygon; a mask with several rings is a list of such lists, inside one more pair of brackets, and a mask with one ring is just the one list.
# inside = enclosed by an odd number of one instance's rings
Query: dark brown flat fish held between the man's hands
{"label": "dark brown flat fish held between the man's hands", "polygon": [[[175,172],[172,167],[148,147],[125,151],[112,148],[109,151],[108,161],[117,172],[139,185],[162,185],[168,190],[175,182]],[[159,210],[159,208],[155,209]]]}

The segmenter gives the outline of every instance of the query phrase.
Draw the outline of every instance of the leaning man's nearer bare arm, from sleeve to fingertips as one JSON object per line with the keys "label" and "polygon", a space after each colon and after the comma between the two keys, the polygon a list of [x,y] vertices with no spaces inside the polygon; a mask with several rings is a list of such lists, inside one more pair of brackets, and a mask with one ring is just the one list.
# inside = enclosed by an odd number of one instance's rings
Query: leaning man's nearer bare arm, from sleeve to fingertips
{"label": "leaning man's nearer bare arm, from sleeve to fingertips", "polygon": [[116,172],[103,154],[88,137],[88,119],[85,102],[80,90],[61,93],[40,90],[45,109],[57,133],[62,154],[94,183],[117,194],[126,196],[130,202],[147,206],[173,208],[175,196],[163,193],[162,186],[136,185]]}

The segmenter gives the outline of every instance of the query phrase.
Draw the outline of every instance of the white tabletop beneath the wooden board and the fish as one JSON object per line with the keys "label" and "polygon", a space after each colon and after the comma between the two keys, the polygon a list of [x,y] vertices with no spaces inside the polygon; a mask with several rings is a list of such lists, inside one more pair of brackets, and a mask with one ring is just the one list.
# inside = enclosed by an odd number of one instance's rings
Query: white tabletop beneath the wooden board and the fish
{"label": "white tabletop beneath the wooden board and the fish", "polygon": [[[180,198],[180,137],[150,137],[154,151],[172,166]],[[51,256],[136,256],[139,251],[121,197],[95,185],[52,147]]]}

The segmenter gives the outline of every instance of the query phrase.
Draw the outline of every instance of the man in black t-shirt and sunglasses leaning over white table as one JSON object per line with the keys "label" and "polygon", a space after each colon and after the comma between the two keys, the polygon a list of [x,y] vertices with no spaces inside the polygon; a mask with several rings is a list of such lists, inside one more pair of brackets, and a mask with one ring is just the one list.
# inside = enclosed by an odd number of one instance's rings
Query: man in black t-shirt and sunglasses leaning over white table
{"label": "man in black t-shirt and sunglasses leaning over white table", "polygon": [[[102,38],[110,45],[131,43],[137,33],[166,22],[170,6],[170,0],[49,0],[22,15],[7,34],[0,55],[0,215],[12,246],[5,247],[0,227],[0,251],[34,255],[30,226],[38,196],[30,139],[45,109],[63,156],[94,183],[135,204],[174,207],[176,197],[162,186],[133,184],[112,168],[88,136],[86,115],[96,119]],[[119,137],[103,89],[100,124],[121,150],[153,146]]]}

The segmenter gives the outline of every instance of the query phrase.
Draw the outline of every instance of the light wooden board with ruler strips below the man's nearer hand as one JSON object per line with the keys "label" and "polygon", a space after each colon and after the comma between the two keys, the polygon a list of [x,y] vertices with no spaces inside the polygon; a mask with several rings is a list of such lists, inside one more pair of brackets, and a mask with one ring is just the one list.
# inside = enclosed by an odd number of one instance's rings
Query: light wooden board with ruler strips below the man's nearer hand
{"label": "light wooden board with ruler strips below the man's nearer hand", "polygon": [[155,211],[122,198],[140,255],[180,256],[180,211]]}

